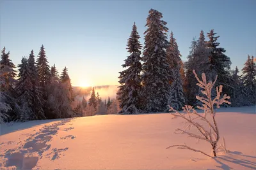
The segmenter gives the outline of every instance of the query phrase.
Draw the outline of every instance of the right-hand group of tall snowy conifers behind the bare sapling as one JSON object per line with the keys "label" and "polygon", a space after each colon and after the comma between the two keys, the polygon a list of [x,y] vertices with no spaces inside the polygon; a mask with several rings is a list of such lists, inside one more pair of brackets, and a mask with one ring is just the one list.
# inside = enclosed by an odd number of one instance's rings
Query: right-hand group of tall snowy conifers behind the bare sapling
{"label": "right-hand group of tall snowy conifers behind the bare sapling", "polygon": [[256,104],[256,66],[253,56],[248,55],[243,74],[239,76],[237,67],[235,70],[230,69],[230,57],[225,55],[226,50],[218,43],[220,36],[216,36],[212,29],[207,33],[208,39],[205,39],[204,31],[200,32],[197,40],[193,39],[188,61],[183,63],[173,32],[168,41],[167,23],[161,18],[161,12],[153,9],[149,11],[142,55],[140,35],[135,23],[132,27],[127,41],[130,55],[124,60],[122,66],[125,69],[119,76],[117,99],[120,113],[162,112],[168,111],[168,105],[181,110],[185,104],[202,104],[196,102],[196,95],[201,93],[201,89],[196,85],[194,69],[198,75],[205,73],[208,81],[213,81],[218,75],[215,85],[223,85],[223,94],[231,97],[230,106]]}

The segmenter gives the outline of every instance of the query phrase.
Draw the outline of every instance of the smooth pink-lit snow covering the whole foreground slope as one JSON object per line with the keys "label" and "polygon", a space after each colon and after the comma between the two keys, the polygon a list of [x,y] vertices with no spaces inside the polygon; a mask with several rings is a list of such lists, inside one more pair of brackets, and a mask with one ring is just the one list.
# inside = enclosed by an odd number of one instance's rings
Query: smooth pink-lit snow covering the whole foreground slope
{"label": "smooth pink-lit snow covering the whole foreground slope", "polygon": [[208,143],[174,134],[168,113],[100,115],[1,125],[0,169],[256,169],[255,106],[216,115],[228,153],[211,159]]}

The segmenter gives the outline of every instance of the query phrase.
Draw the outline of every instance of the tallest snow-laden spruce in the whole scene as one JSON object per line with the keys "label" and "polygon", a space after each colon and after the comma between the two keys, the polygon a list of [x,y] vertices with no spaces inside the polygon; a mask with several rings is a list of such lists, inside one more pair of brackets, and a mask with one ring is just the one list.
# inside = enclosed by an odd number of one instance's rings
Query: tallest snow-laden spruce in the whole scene
{"label": "tallest snow-laden spruce in the whole scene", "polygon": [[161,20],[163,15],[151,9],[147,17],[145,31],[145,46],[143,51],[143,105],[145,112],[164,111],[168,103],[170,91],[170,69],[166,57],[168,41],[167,23]]}

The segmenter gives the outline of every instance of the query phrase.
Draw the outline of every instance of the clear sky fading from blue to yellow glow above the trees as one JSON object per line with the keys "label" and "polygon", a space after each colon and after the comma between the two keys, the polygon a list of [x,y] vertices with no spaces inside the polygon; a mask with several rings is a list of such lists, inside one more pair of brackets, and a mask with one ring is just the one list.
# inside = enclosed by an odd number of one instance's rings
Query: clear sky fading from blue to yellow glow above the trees
{"label": "clear sky fading from blue to yellow glow above the trees", "polygon": [[[241,70],[247,55],[256,56],[256,1],[3,1],[0,0],[0,47],[20,64],[44,45],[49,65],[67,66],[72,85],[118,85],[126,45],[136,22],[144,44],[148,11],[163,13],[177,39],[182,60],[200,31],[214,29],[220,47]],[[169,38],[170,32],[168,32]]]}

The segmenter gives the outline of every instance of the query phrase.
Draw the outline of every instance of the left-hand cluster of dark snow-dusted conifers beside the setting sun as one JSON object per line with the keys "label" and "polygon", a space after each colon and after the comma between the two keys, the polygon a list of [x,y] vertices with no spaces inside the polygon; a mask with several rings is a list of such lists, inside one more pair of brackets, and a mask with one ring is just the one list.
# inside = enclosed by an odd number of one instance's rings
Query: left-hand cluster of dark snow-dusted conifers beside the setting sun
{"label": "left-hand cluster of dark snow-dusted conifers beside the setting sun", "polygon": [[22,57],[18,74],[5,47],[0,64],[0,122],[81,116],[72,108],[74,95],[67,67],[60,75],[55,64],[50,67],[43,45],[37,59],[33,50],[29,57]]}

